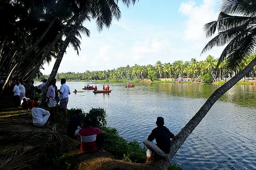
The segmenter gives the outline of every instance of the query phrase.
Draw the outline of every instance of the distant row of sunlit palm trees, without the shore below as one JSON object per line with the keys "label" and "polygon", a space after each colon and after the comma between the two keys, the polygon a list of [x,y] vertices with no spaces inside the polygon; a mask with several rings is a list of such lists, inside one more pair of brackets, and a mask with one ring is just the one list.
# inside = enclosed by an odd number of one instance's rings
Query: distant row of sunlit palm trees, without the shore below
{"label": "distant row of sunlit palm trees, without the shore below", "polygon": [[[190,61],[174,61],[173,63],[162,63],[157,61],[155,65],[148,64],[147,66],[140,66],[135,64],[134,66],[118,67],[112,70],[104,71],[89,71],[83,73],[66,72],[57,73],[56,79],[66,78],[69,81],[79,81],[79,80],[134,80],[134,79],[150,79],[156,80],[157,78],[200,78],[202,75],[210,74],[212,79],[219,78],[221,80],[230,78],[234,76],[237,72],[242,70],[252,59],[255,58],[254,55],[247,57],[246,62],[240,68],[232,69],[226,66],[226,62],[223,61],[219,64],[217,63],[219,59],[214,59],[213,56],[209,55],[204,61],[197,61],[196,59],[191,59]],[[254,67],[248,75],[248,77],[256,76],[256,68]],[[44,75],[42,78],[48,78]]]}

